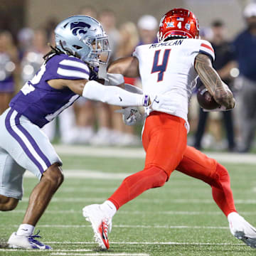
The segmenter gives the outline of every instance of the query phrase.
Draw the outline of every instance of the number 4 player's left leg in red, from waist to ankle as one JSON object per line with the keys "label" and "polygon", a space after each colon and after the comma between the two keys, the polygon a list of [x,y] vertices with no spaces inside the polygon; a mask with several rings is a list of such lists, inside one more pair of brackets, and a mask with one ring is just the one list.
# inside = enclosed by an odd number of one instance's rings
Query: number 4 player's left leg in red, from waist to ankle
{"label": "number 4 player's left leg in red, from waist to ankle", "polygon": [[164,186],[186,149],[185,121],[180,117],[152,112],[146,118],[142,142],[146,151],[142,171],[124,179],[108,199],[118,209],[149,188]]}

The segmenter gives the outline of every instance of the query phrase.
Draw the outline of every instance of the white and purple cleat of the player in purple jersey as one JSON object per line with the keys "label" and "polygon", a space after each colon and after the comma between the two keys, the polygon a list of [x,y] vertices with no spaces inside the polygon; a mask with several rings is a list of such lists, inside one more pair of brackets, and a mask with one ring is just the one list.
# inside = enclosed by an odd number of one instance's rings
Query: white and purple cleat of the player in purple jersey
{"label": "white and purple cleat of the player in purple jersey", "polygon": [[12,233],[8,240],[9,248],[20,248],[20,249],[39,249],[39,250],[52,250],[52,247],[49,245],[43,245],[42,242],[39,242],[35,238],[41,238],[39,234],[36,235],[17,235],[16,233]]}

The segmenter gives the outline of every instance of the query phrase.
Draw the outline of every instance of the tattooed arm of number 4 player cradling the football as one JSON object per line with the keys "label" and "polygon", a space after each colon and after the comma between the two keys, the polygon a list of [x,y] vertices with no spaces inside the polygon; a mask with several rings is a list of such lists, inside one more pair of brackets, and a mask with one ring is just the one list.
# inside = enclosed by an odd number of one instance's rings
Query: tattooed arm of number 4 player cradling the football
{"label": "tattooed arm of number 4 player cradling the football", "polygon": [[213,95],[216,102],[225,106],[227,110],[233,109],[233,107],[235,107],[233,93],[228,88],[228,85],[225,85],[220,79],[208,55],[199,53],[196,56],[195,69],[203,85],[205,85],[208,92]]}

